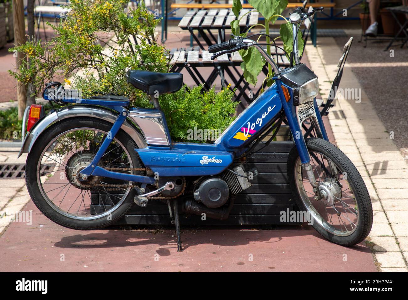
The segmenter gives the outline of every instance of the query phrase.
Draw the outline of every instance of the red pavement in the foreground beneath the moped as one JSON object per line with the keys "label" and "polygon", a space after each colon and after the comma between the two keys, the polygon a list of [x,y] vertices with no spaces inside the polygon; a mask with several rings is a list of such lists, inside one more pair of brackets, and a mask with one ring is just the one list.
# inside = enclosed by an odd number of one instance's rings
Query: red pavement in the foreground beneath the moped
{"label": "red pavement in the foreground beneath the moped", "polygon": [[2,271],[377,271],[363,244],[341,247],[309,228],[190,227],[180,253],[171,227],[75,231],[31,209],[32,225],[13,222],[0,237]]}

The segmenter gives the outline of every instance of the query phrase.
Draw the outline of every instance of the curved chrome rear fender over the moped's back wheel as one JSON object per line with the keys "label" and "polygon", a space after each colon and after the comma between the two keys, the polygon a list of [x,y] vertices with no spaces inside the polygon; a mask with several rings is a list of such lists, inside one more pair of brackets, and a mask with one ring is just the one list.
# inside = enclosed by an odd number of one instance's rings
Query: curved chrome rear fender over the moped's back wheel
{"label": "curved chrome rear fender over the moped's back wheel", "polygon": [[[31,131],[25,136],[20,153],[18,153],[18,157],[20,157],[22,153],[29,153],[33,147],[33,144],[35,143],[35,140],[37,140],[38,136],[40,136],[40,134],[50,125],[54,124],[55,122],[74,117],[92,117],[102,119],[113,124],[118,117],[118,113],[103,107],[95,107],[90,105],[69,105],[67,107],[57,109],[39,120]],[[138,148],[147,147],[146,139],[144,138],[140,129],[138,129],[131,120],[126,119],[122,124],[121,129],[129,134]]]}

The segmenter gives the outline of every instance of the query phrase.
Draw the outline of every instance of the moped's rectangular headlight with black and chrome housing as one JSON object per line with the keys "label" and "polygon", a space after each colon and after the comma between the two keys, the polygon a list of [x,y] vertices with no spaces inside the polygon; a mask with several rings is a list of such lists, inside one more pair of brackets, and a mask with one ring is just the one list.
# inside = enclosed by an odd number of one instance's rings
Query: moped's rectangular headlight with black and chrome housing
{"label": "moped's rectangular headlight with black and chrome housing", "polygon": [[293,89],[293,105],[313,100],[319,93],[319,80],[305,64],[298,64],[281,73],[282,82]]}

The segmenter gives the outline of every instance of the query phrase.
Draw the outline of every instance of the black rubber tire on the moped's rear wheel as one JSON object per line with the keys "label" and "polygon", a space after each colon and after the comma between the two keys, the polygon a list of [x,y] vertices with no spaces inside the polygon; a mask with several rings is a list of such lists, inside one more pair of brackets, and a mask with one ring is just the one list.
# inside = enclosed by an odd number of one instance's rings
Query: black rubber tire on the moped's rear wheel
{"label": "black rubber tire on the moped's rear wheel", "polygon": [[[62,213],[59,213],[58,211],[53,209],[53,207],[51,207],[47,200],[44,199],[44,196],[42,196],[37,179],[38,160],[40,159],[44,147],[46,147],[46,145],[48,145],[53,140],[53,138],[55,138],[59,134],[71,129],[82,127],[90,127],[108,132],[111,129],[112,124],[104,120],[95,118],[69,118],[51,125],[43,133],[41,133],[41,135],[35,141],[31,152],[27,156],[25,178],[28,192],[34,204],[44,214],[44,216],[49,218],[51,221],[71,229],[99,229],[114,223],[132,207],[133,198],[136,195],[135,189],[131,189],[129,191],[122,204],[118,205],[118,207],[111,212],[109,218],[107,218],[106,216],[102,216],[101,218],[97,218],[94,220],[76,220],[64,216]],[[137,146],[131,139],[131,137],[122,129],[120,129],[120,131],[118,131],[118,133],[116,134],[115,139],[117,139],[129,153],[129,160],[131,160],[133,167],[140,168],[142,163],[140,162],[137,153],[134,150],[135,148],[137,148]]]}

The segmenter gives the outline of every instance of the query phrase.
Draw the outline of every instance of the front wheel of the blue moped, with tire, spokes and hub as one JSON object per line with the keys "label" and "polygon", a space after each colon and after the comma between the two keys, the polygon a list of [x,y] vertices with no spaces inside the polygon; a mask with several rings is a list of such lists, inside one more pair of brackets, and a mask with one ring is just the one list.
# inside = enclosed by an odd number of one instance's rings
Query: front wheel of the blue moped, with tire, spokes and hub
{"label": "front wheel of the blue moped, with tire, spokes and hub", "polygon": [[343,246],[362,242],[373,224],[367,187],[357,168],[335,145],[320,138],[306,140],[317,187],[309,182],[296,147],[288,157],[288,179],[299,209],[322,236]]}

